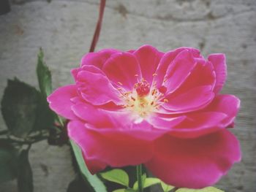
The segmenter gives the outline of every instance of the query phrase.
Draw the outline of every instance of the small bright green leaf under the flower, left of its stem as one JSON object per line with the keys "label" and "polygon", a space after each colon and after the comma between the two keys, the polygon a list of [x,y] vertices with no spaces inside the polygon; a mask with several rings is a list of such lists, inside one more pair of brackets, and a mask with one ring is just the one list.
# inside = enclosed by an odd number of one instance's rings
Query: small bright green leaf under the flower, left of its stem
{"label": "small bright green leaf under the flower, left of its stem", "polygon": [[112,181],[113,183],[118,183],[129,187],[129,176],[127,172],[122,169],[112,169],[109,172],[104,172],[100,174],[105,180]]}

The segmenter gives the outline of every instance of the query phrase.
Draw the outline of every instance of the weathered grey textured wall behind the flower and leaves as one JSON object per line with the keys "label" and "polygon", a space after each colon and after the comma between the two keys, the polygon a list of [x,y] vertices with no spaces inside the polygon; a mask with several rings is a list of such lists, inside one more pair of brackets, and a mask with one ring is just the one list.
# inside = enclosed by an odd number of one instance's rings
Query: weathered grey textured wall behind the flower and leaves
{"label": "weathered grey textured wall behind the flower and leaves", "polygon": [[[0,16],[0,96],[7,78],[37,86],[37,51],[53,72],[54,88],[72,82],[71,68],[89,50],[98,14],[96,0],[12,0],[12,12]],[[97,50],[128,50],[151,44],[167,51],[189,46],[227,55],[223,93],[241,99],[233,133],[243,160],[217,184],[230,192],[256,191],[256,1],[255,0],[109,0]],[[0,128],[5,128],[0,118]],[[35,192],[64,192],[72,180],[68,147],[34,145],[30,153]],[[15,181],[1,192],[17,191]]]}

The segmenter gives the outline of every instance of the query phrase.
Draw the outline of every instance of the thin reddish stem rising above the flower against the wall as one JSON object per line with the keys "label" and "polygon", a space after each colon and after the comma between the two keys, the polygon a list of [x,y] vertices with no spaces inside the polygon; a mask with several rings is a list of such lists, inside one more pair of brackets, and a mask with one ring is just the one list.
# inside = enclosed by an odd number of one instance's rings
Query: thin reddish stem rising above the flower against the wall
{"label": "thin reddish stem rising above the flower against the wall", "polygon": [[106,0],[101,0],[100,1],[100,4],[99,4],[99,18],[98,18],[97,26],[96,26],[95,31],[94,31],[94,38],[91,41],[91,47],[90,47],[89,52],[94,52],[94,49],[95,49],[95,47],[97,45],[97,42],[99,40],[99,33],[100,33],[100,29],[102,28],[102,19],[103,19],[105,4],[106,4]]}

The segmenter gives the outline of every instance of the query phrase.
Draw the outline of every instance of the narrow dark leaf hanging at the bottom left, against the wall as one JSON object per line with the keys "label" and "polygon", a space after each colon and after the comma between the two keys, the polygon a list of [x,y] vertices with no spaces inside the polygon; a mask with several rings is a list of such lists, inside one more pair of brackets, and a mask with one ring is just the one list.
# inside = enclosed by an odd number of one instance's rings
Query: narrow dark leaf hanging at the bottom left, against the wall
{"label": "narrow dark leaf hanging at the bottom left, against the wall", "polygon": [[23,150],[20,153],[18,165],[18,191],[33,191],[33,173],[29,164],[29,150]]}

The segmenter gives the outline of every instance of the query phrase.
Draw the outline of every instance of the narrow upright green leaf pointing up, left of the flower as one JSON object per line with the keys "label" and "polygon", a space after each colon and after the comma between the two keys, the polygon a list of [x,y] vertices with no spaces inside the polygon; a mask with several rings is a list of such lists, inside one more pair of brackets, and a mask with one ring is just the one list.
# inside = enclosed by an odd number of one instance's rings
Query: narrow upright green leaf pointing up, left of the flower
{"label": "narrow upright green leaf pointing up, left of the flower", "polygon": [[40,91],[46,98],[53,91],[53,88],[50,70],[45,64],[42,48],[40,48],[37,55],[37,79],[39,82]]}

